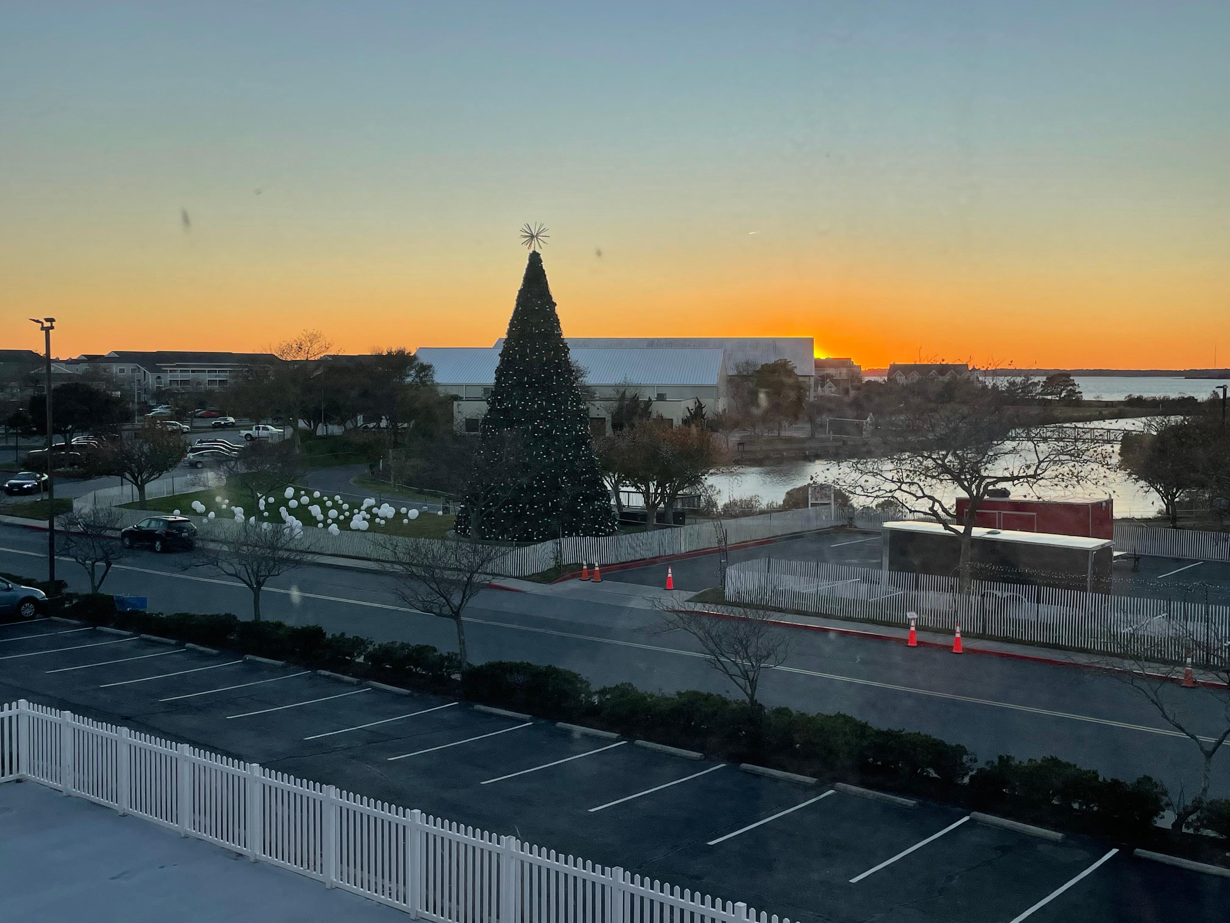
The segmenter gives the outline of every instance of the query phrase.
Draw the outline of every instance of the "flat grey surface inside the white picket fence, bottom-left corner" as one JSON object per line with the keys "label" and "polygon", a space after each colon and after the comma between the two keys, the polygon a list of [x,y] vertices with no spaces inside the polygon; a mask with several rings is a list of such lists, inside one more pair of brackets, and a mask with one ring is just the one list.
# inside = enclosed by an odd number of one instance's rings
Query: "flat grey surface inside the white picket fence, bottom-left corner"
{"label": "flat grey surface inside the white picket fence, bottom-left corner", "polygon": [[36,783],[0,785],[0,919],[378,923],[406,914]]}

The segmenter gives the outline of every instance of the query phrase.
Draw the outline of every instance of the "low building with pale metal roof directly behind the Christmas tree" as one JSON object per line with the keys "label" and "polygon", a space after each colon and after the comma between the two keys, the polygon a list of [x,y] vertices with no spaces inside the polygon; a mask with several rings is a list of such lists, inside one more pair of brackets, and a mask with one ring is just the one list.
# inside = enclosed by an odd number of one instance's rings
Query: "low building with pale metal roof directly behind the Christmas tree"
{"label": "low building with pale metal roof directly behind the Christmas tree", "polygon": [[[421,347],[415,354],[430,363],[440,394],[453,395],[459,432],[478,432],[496,382],[503,343],[494,347]],[[726,364],[713,348],[578,348],[572,361],[584,369],[589,421],[595,434],[610,432],[610,406],[620,390],[635,390],[653,402],[653,415],[683,422],[699,401],[708,414],[726,409]]]}

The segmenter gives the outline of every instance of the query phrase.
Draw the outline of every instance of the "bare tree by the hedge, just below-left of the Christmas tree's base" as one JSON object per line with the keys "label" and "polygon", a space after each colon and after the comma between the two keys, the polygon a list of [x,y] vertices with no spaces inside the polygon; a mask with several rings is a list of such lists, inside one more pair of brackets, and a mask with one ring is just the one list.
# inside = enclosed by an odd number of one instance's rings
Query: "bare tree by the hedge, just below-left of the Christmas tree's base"
{"label": "bare tree by the hedge, just below-left of the Christmas tree's base", "polygon": [[458,655],[469,662],[465,646],[465,609],[487,587],[496,560],[508,551],[477,541],[399,539],[373,537],[389,556],[396,593],[406,605],[442,619],[451,619],[458,631]]}

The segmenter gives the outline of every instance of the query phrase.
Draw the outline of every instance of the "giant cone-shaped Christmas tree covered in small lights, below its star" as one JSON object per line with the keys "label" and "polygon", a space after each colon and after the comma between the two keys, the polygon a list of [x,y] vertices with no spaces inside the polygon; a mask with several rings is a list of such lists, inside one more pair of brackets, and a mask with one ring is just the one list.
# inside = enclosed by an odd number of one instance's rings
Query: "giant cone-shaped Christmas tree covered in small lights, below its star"
{"label": "giant cone-shaped Christmas tree covered in small lights, below its star", "polygon": [[542,256],[531,251],[458,509],[458,533],[542,541],[615,532],[579,384]]}

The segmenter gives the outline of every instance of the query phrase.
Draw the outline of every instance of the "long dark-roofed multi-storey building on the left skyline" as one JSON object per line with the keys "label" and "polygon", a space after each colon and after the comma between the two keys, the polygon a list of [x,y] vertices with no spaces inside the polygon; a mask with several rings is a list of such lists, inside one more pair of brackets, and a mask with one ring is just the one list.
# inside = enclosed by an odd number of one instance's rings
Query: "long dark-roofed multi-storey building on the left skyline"
{"label": "long dark-roofed multi-storey building on the left skyline", "polygon": [[113,350],[84,356],[87,370],[109,383],[113,390],[137,402],[154,399],[159,391],[219,391],[230,388],[253,366],[278,363],[263,352],[178,352]]}

